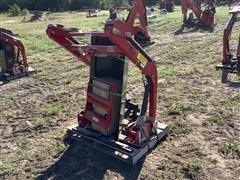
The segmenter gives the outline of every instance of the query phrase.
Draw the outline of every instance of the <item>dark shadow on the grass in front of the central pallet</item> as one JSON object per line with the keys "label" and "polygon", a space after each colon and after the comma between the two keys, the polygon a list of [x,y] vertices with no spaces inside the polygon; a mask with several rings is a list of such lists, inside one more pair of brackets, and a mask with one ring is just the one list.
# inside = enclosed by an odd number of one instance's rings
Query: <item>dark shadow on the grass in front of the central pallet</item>
{"label": "dark shadow on the grass in front of the central pallet", "polygon": [[[45,179],[138,179],[145,158],[135,166],[128,165],[111,156],[85,146],[81,142],[71,143],[61,158],[37,180]],[[111,173],[110,173],[111,172]]]}

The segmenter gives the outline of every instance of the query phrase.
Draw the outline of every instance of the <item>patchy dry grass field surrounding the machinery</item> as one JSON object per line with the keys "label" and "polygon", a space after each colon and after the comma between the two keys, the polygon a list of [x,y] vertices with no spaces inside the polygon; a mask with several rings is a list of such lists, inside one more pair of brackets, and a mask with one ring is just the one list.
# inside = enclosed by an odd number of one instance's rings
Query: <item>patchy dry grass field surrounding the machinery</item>
{"label": "patchy dry grass field surrounding the machinery", "polygon": [[[181,26],[179,7],[149,19],[155,44],[146,51],[158,66],[158,121],[171,125],[171,132],[137,166],[82,144],[64,144],[65,128],[85,104],[88,68],[45,30],[52,23],[102,30],[107,17],[108,12],[92,19],[80,12],[49,13],[48,21],[30,23],[0,15],[0,27],[19,35],[37,70],[0,86],[0,179],[239,179],[240,84],[222,85],[215,70],[227,7],[217,9],[213,32],[174,36]],[[141,74],[130,68],[129,77],[130,96],[139,101],[141,92],[134,89],[142,85]]]}

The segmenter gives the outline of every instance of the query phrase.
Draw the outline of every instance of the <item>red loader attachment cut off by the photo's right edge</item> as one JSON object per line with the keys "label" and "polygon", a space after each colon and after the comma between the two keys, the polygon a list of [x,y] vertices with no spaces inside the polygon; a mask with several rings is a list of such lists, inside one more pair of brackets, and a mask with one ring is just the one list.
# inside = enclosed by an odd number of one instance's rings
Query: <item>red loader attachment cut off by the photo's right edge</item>
{"label": "red loader attachment cut off by the photo's right edge", "polygon": [[223,60],[222,64],[217,65],[217,70],[222,70],[222,83],[228,82],[228,74],[240,75],[240,36],[236,55],[230,51],[230,38],[234,24],[239,20],[240,6],[236,6],[230,11],[231,17],[227,22],[223,35]]}

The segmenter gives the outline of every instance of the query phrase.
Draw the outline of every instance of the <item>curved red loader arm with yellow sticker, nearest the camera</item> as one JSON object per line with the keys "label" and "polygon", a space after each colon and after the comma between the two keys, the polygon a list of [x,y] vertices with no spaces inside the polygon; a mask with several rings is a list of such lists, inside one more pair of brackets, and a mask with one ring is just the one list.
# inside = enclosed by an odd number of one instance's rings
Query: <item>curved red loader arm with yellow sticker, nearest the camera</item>
{"label": "curved red loader arm with yellow sticker, nearest the camera", "polygon": [[[122,50],[123,54],[139,68],[147,79],[150,79],[149,117],[155,119],[158,84],[157,67],[155,62],[132,38],[132,36],[126,36],[125,31],[131,31],[131,26],[126,25],[124,22],[116,21],[113,26],[108,29],[109,39]],[[144,103],[145,102],[143,102],[143,106]]]}

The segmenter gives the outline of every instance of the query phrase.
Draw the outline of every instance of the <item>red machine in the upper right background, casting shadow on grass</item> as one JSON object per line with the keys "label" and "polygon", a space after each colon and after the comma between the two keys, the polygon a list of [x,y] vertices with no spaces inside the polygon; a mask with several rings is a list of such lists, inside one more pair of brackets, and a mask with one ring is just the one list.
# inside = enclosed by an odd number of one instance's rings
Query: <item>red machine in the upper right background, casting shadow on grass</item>
{"label": "red machine in the upper right background, casting shadow on grass", "polygon": [[[205,9],[202,10],[202,2]],[[182,0],[183,23],[187,26],[214,26],[215,0]],[[192,10],[188,16],[188,9]]]}

